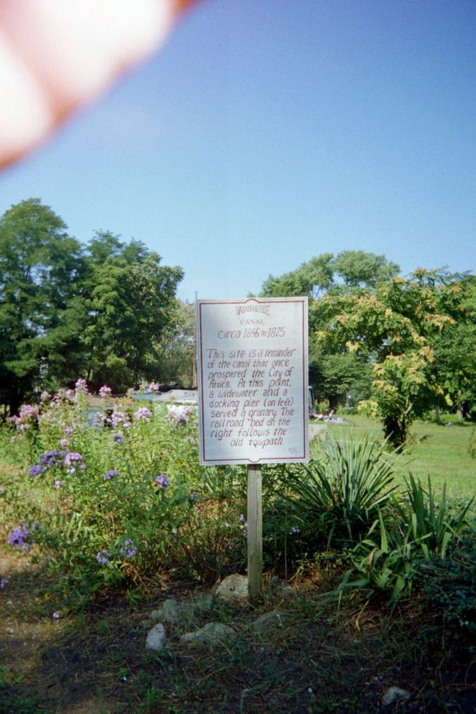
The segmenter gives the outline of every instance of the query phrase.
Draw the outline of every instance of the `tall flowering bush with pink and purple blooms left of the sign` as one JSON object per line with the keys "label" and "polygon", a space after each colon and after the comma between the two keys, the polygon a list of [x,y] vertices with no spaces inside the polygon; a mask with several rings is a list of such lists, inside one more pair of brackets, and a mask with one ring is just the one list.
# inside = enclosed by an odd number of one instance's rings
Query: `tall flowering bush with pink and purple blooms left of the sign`
{"label": "tall flowering bush with pink and purple blooms left of the sign", "polygon": [[[233,476],[228,496],[239,484],[235,505],[224,498],[222,481],[213,481],[220,469],[199,464],[196,408],[140,406],[113,399],[107,386],[99,392],[108,402],[95,425],[88,423],[82,379],[74,390],[44,393],[37,407],[22,409],[16,446],[25,449],[32,498],[11,499],[21,525],[9,543],[27,550],[26,520],[41,523],[38,552],[63,573],[65,592],[86,595],[104,585],[143,585],[166,568],[215,579],[235,541],[243,564],[245,526],[236,511],[243,503],[242,470],[227,472]],[[25,423],[36,433],[33,447]],[[226,521],[237,526],[226,528]],[[206,554],[212,533],[213,558]]]}

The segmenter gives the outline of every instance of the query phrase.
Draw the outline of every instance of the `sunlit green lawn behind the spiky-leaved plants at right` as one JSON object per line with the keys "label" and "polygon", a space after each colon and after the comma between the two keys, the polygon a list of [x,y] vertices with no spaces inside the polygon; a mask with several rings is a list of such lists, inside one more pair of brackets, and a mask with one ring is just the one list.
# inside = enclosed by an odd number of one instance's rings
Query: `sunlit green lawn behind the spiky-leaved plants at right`
{"label": "sunlit green lawn behind the spiky-leaved plants at right", "polygon": [[[366,416],[352,415],[345,424],[329,424],[328,428],[337,437],[346,433],[356,436],[370,432],[375,439],[383,439],[380,423]],[[475,446],[475,425],[454,423],[453,426],[438,426],[434,423],[416,421],[411,430],[410,443],[400,458],[399,476],[411,471],[415,478],[427,481],[441,490],[446,482],[447,493],[454,498],[473,496],[476,493],[476,458],[470,453]]]}

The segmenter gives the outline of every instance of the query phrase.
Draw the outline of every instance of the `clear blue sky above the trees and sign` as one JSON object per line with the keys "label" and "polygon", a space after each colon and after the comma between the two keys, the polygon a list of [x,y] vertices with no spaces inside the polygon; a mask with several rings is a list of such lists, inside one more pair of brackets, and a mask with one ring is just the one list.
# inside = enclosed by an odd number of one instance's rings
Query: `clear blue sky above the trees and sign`
{"label": "clear blue sky above the trees and sign", "polygon": [[204,0],[0,176],[240,298],[320,253],[474,271],[475,0]]}

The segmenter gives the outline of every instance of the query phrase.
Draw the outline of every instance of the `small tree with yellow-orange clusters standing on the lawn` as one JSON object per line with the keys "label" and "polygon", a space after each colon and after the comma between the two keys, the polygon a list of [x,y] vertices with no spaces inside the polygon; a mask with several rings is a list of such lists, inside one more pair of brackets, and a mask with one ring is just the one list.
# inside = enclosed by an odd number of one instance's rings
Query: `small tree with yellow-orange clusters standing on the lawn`
{"label": "small tree with yellow-orange clusters standing on the lawn", "polygon": [[318,339],[331,351],[373,356],[370,406],[385,436],[402,446],[413,419],[449,396],[441,385],[435,341],[462,313],[460,288],[445,271],[418,269],[365,294],[325,296],[317,308]]}

